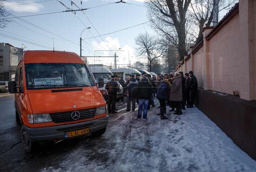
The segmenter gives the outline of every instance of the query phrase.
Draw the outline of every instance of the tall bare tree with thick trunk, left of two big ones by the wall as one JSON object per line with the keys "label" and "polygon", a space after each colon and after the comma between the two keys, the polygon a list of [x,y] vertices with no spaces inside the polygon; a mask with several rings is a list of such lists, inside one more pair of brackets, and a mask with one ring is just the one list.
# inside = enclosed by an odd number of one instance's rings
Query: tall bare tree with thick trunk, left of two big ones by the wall
{"label": "tall bare tree with thick trunk, left of two big ones by the wall", "polygon": [[151,21],[150,26],[155,30],[160,30],[177,47],[181,60],[187,54],[186,14],[190,2],[191,0],[145,1],[148,18]]}

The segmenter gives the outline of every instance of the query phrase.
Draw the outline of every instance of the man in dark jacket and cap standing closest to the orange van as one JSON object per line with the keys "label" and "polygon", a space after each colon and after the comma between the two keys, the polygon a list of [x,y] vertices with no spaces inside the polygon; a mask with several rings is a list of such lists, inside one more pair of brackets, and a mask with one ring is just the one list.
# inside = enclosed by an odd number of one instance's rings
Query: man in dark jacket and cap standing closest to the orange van
{"label": "man in dark jacket and cap standing closest to the orange van", "polygon": [[111,81],[108,81],[105,89],[108,91],[108,113],[117,113],[116,111],[116,96],[119,91],[119,85],[115,81],[115,76],[111,76]]}

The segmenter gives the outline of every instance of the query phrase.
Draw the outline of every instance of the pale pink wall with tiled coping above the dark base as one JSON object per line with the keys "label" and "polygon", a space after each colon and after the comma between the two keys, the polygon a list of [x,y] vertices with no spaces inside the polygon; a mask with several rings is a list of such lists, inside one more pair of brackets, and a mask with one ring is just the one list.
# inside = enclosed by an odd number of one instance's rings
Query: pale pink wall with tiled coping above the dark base
{"label": "pale pink wall with tiled coping above the dark base", "polygon": [[194,52],[191,48],[190,58],[176,71],[192,70],[198,87],[204,90],[239,91],[240,98],[256,100],[255,19],[256,1],[239,0],[239,6],[231,9],[219,26],[204,28],[203,46],[193,47]]}

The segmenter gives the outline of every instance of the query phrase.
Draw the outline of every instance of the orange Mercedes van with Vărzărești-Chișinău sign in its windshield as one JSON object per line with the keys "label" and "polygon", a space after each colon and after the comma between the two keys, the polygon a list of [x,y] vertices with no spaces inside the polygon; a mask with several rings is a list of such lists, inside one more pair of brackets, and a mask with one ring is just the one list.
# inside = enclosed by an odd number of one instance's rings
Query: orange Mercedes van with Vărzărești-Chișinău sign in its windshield
{"label": "orange Mercedes van with V\u0103rz\u0103re\u0219ti-Chi\u0219in\u0103u sign in its windshield", "polygon": [[[103,79],[98,84],[103,87]],[[106,102],[76,53],[25,51],[9,92],[15,93],[16,119],[27,152],[37,149],[39,142],[106,131]]]}

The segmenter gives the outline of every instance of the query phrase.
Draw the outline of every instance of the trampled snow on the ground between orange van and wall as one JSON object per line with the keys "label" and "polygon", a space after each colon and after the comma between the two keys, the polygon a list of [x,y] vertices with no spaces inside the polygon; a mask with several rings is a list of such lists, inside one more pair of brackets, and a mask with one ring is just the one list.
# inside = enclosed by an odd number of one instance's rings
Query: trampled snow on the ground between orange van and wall
{"label": "trampled snow on the ground between orange van and wall", "polygon": [[[167,108],[167,120],[148,111],[148,120],[134,120],[134,112],[110,115],[106,133],[87,137],[79,147],[64,155],[64,160],[41,171],[256,171],[256,161],[237,147],[198,108],[174,115]],[[120,110],[121,109],[121,110]]]}

